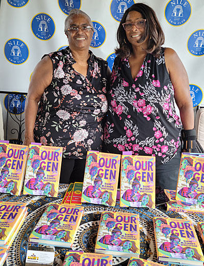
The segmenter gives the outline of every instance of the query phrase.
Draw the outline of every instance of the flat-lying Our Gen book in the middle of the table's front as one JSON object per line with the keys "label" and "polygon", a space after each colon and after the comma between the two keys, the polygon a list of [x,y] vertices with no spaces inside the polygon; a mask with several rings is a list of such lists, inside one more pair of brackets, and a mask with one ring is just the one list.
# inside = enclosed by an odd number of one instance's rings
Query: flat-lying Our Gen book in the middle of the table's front
{"label": "flat-lying Our Gen book in the middle of the table's front", "polygon": [[95,252],[138,257],[140,253],[139,215],[103,211]]}

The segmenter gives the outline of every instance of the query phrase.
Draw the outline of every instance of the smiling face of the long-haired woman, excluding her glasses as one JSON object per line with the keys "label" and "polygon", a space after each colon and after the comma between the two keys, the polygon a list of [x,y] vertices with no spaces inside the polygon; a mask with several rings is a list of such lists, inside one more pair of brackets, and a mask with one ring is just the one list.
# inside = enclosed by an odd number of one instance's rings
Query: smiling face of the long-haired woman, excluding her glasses
{"label": "smiling face of the long-haired woman, excluding her glasses", "polygon": [[[138,20],[143,19],[142,14],[137,11],[131,11],[127,14],[126,21],[125,22],[131,22],[136,23]],[[141,39],[145,32],[145,28],[138,29],[135,25],[132,26],[132,30],[126,31],[126,37],[127,40],[133,45],[138,46],[141,45],[141,43],[138,43],[138,41]]]}

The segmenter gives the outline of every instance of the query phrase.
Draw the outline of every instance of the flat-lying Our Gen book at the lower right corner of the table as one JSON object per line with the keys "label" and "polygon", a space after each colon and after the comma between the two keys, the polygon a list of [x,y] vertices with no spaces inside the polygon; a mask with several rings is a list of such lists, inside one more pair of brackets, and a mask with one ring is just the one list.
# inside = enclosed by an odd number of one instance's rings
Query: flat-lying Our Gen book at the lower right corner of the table
{"label": "flat-lying Our Gen book at the lower right corner of the table", "polygon": [[158,261],[202,265],[202,250],[191,220],[154,217]]}

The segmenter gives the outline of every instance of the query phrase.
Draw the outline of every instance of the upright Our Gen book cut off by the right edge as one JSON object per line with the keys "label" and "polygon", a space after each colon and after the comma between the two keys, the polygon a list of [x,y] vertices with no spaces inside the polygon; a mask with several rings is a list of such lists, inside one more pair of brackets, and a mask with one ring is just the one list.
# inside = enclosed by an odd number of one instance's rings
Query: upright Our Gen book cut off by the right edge
{"label": "upright Our Gen book cut off by the right edge", "polygon": [[204,209],[204,157],[182,154],[175,199]]}

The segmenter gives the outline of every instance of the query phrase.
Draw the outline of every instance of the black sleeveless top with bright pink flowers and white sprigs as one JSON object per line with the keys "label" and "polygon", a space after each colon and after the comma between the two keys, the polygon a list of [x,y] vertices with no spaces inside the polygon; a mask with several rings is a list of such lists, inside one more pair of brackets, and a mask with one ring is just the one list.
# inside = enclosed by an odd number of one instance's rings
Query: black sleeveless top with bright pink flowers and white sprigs
{"label": "black sleeveless top with bright pink flowers and white sprigs", "polygon": [[182,124],[174,108],[174,90],[161,57],[147,54],[135,80],[128,58],[115,58],[107,95],[104,151],[156,156],[165,164],[181,145]]}

